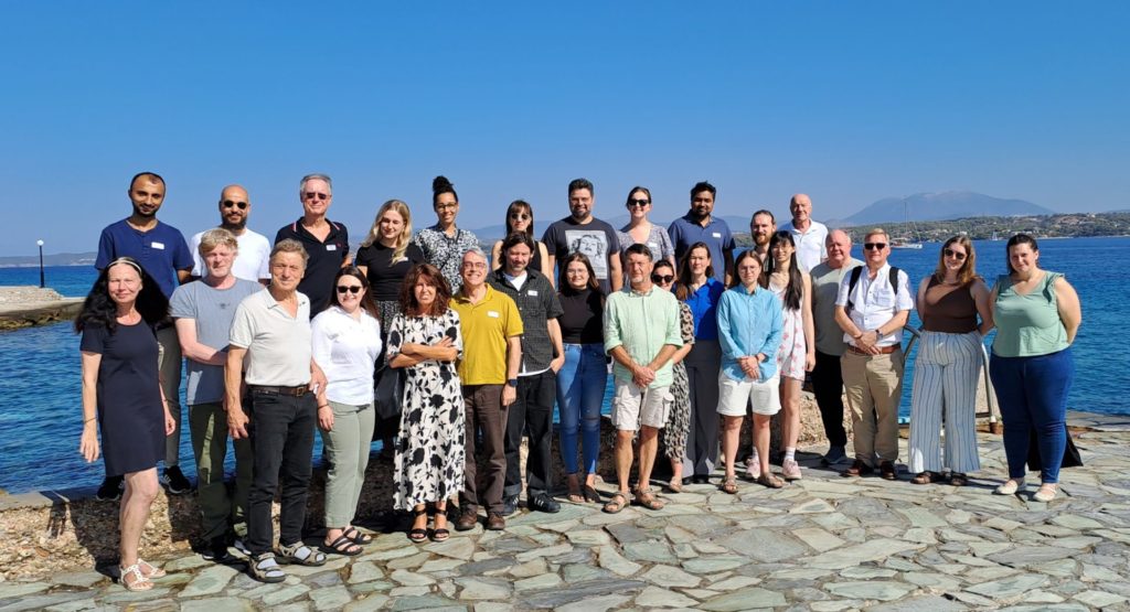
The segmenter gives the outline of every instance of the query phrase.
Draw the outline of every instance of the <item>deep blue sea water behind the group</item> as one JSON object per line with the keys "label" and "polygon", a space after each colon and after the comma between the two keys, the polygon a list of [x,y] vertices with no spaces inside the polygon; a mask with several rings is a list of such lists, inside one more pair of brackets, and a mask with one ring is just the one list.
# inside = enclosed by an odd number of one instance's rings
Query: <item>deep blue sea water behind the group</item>
{"label": "deep blue sea water behind the group", "polygon": [[[977,270],[990,285],[1005,272],[1005,242],[977,242]],[[939,244],[921,251],[893,251],[890,262],[911,276],[912,290],[938,264]],[[853,255],[861,257],[859,245]],[[1044,239],[1040,263],[1067,274],[1083,301],[1083,326],[1074,346],[1076,379],[1068,406],[1112,414],[1130,413],[1121,393],[1130,385],[1130,327],[1121,320],[1128,291],[1118,279],[1130,269],[1130,238]],[[86,295],[92,268],[47,268],[46,285],[64,296]],[[38,285],[36,268],[0,269],[0,285]],[[916,316],[911,317],[914,326]],[[986,338],[991,342],[992,334]],[[914,353],[907,358],[901,414],[910,414]],[[0,332],[0,489],[9,492],[90,487],[102,481],[102,462],[87,464],[78,453],[82,430],[78,336],[69,323]],[[183,385],[182,385],[183,387]],[[605,396],[608,412],[611,384]],[[182,392],[182,410],[183,408]],[[186,416],[186,414],[185,414]],[[321,455],[321,438],[315,440]],[[374,445],[377,448],[380,443]],[[228,458],[231,470],[232,457]],[[181,465],[190,477],[192,448],[181,438]]]}

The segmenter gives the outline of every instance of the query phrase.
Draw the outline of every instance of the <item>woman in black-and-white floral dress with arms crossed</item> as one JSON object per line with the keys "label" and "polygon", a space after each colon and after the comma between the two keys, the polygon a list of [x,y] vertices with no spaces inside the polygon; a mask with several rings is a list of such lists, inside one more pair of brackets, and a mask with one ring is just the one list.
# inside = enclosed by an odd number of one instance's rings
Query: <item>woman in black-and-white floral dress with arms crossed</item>
{"label": "woman in black-and-white floral dress with arms crossed", "polygon": [[435,506],[432,540],[447,531],[446,500],[463,488],[463,396],[455,360],[463,352],[459,315],[447,307],[451,288],[434,265],[405,277],[402,314],[389,327],[389,366],[408,368],[393,458],[398,509],[412,510],[412,542],[427,540],[427,504]]}

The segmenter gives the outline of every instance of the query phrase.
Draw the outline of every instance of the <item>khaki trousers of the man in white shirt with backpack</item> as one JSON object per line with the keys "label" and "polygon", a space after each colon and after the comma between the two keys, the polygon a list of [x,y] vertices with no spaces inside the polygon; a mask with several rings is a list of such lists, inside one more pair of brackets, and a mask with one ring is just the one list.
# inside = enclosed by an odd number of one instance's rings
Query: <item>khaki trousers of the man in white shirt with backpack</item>
{"label": "khaki trousers of the man in white shirt with backpack", "polygon": [[903,351],[858,355],[840,359],[847,408],[851,411],[855,458],[875,467],[898,458],[898,400],[903,393]]}

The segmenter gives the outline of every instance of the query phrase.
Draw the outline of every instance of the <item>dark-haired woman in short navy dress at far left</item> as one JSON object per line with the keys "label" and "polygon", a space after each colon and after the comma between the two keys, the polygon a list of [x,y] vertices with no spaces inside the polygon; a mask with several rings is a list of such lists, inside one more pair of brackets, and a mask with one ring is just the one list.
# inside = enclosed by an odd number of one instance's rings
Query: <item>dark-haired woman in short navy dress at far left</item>
{"label": "dark-haired woman in short navy dress at far left", "polygon": [[132,257],[119,257],[98,274],[75,320],[75,330],[82,334],[79,452],[87,462],[101,452],[106,475],[125,477],[120,569],[122,586],[130,591],[148,591],[151,578],[165,575],[141,560],[138,545],[160,490],[157,462],[175,427],[162,396],[153,327],[167,314],[168,300],[157,282]]}

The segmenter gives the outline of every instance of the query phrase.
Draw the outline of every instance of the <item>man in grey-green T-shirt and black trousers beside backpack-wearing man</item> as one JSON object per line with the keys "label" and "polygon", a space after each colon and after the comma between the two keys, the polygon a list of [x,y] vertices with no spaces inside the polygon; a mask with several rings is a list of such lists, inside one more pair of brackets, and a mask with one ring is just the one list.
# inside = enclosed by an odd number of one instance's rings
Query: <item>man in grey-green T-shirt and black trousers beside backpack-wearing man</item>
{"label": "man in grey-green T-shirt and black trousers beside backpack-wearing man", "polygon": [[834,465],[847,458],[844,447],[847,432],[844,430],[844,379],[840,370],[843,356],[843,330],[836,323],[836,292],[844,274],[863,262],[851,256],[851,236],[842,229],[833,229],[824,242],[828,259],[812,268],[812,323],[816,327],[816,367],[812,369],[812,392],[816,405],[820,408],[824,434],[828,438],[825,465]]}

